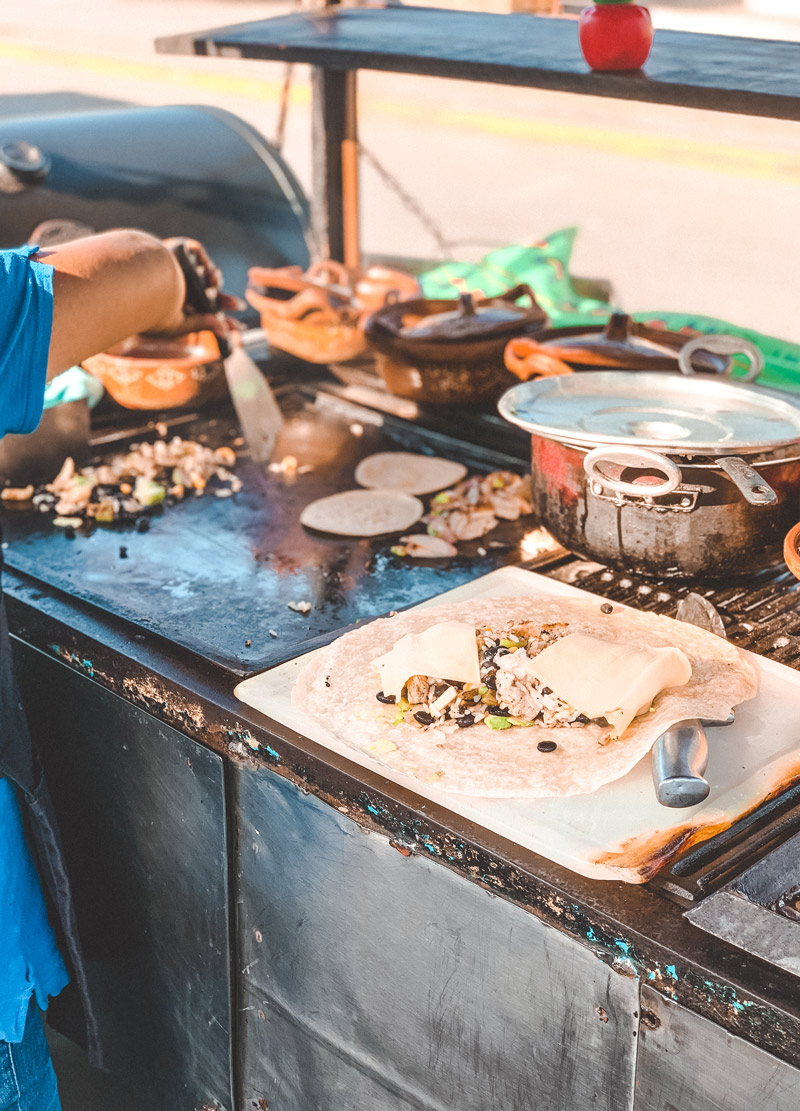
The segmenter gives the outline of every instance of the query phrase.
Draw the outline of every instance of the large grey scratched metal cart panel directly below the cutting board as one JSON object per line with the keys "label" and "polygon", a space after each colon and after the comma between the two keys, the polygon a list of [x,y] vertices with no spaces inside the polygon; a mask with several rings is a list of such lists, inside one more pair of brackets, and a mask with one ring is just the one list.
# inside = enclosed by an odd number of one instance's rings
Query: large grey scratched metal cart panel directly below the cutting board
{"label": "large grey scratched metal cart panel directly below the cutting board", "polygon": [[244,1108],[629,1111],[634,980],[269,770],[233,782]]}

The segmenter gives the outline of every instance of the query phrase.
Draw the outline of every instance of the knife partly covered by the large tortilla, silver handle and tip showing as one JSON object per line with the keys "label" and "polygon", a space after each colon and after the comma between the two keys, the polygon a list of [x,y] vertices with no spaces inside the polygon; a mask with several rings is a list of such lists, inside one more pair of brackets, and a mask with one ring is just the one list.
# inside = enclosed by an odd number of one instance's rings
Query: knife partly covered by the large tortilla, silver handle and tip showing
{"label": "knife partly covered by the large tortilla, silver handle and tip showing", "polygon": [[[691,593],[682,598],[678,603],[676,619],[718,637],[726,637],[722,618],[701,594]],[[732,721],[732,715],[728,720]],[[708,798],[710,787],[704,778],[707,765],[708,738],[702,721],[679,721],[662,733],[652,747],[652,778],[656,797],[661,805],[696,807]]]}

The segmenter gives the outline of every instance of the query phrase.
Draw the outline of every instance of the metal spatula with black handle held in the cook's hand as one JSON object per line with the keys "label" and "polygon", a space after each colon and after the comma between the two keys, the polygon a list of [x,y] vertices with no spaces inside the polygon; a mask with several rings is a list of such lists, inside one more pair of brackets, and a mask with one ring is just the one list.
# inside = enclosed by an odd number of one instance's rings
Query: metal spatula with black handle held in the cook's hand
{"label": "metal spatula with black handle held in the cook's hand", "polygon": [[[187,284],[187,301],[198,312],[219,312],[217,290],[207,288],[191,252],[182,243],[173,248]],[[269,382],[259,367],[244,350],[240,340],[233,343],[224,337],[218,337],[220,353],[224,360],[224,372],[228,390],[236,409],[237,418],[250,449],[250,456],[257,463],[269,462],[276,439],[280,432],[283,418]]]}

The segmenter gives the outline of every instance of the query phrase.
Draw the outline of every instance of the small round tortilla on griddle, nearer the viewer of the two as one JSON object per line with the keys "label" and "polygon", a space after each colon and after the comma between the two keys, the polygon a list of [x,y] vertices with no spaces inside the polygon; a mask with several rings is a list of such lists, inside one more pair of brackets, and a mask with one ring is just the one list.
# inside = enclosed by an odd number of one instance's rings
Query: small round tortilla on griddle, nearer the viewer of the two
{"label": "small round tortilla on griddle, nearer the viewer of the two", "polygon": [[339,537],[381,537],[404,532],[423,512],[419,498],[397,490],[344,490],[310,502],[300,523]]}

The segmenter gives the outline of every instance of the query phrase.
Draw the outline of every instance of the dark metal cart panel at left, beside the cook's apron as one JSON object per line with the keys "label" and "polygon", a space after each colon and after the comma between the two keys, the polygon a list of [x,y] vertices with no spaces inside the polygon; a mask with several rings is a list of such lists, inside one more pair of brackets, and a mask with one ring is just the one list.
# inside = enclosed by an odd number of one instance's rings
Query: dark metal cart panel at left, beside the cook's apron
{"label": "dark metal cart panel at left, beside the cook's apron", "polygon": [[[107,1105],[232,1111],[222,760],[62,663],[16,651],[111,1069]],[[74,1084],[64,1111],[86,1105]]]}

